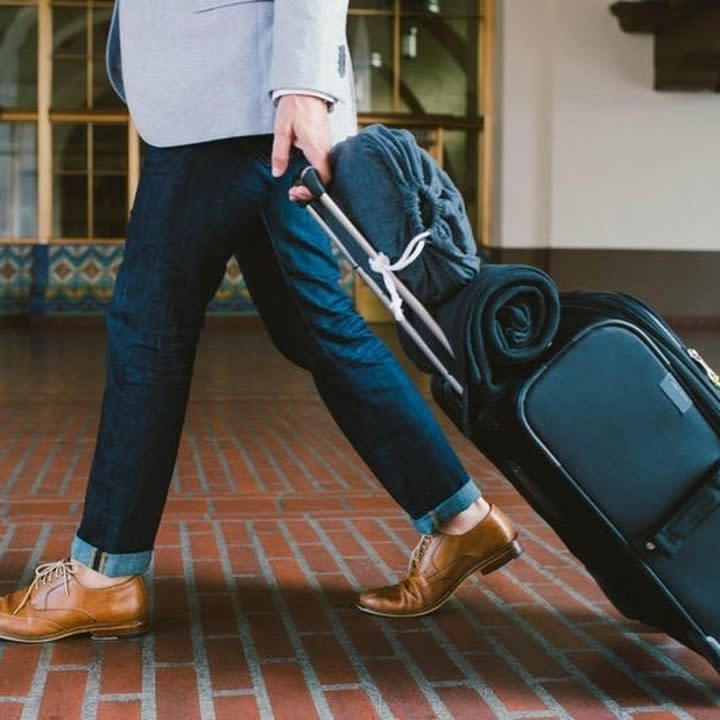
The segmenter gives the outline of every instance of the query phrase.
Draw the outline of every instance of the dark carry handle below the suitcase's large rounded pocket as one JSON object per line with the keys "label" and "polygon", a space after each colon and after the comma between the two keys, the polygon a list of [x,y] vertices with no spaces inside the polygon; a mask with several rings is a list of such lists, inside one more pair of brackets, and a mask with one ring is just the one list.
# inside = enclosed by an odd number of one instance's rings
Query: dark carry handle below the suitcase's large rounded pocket
{"label": "dark carry handle below the suitcase's large rounded pocket", "polygon": [[662,550],[677,555],[685,541],[720,508],[720,463],[710,471],[703,484],[677,509],[675,514],[645,541],[645,550]]}

